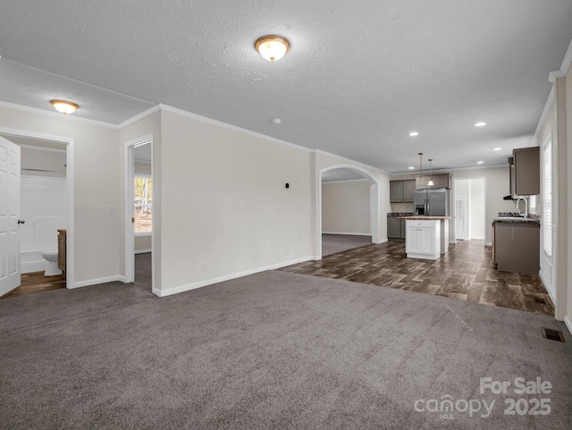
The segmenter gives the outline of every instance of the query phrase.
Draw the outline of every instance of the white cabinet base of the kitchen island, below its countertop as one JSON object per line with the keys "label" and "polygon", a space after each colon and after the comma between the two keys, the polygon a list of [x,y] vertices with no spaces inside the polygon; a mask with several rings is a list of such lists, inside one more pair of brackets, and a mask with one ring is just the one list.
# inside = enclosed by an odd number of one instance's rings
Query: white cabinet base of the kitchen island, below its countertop
{"label": "white cabinet base of the kitchen island, below its countertop", "polygon": [[407,220],[405,251],[409,258],[436,260],[441,257],[441,221]]}

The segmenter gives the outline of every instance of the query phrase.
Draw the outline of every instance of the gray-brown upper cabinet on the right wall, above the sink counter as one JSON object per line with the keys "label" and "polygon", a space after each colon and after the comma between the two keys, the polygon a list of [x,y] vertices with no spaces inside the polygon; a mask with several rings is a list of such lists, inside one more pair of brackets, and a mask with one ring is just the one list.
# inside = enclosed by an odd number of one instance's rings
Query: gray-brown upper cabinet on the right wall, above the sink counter
{"label": "gray-brown upper cabinet on the right wall, above the sink counter", "polygon": [[540,194],[540,148],[513,149],[514,195]]}

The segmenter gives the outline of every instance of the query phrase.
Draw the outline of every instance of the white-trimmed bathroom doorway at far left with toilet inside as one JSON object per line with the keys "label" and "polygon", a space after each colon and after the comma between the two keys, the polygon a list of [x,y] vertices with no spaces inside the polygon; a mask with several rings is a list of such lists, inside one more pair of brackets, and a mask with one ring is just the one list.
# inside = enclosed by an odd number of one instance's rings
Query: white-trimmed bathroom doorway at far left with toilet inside
{"label": "white-trimmed bathroom doorway at far left with toilet inside", "polygon": [[[0,128],[0,136],[15,145],[21,155],[18,181],[14,182],[18,188],[14,192],[18,196],[14,209],[18,228],[13,232],[14,246],[8,256],[16,270],[10,286],[3,285],[1,293],[23,295],[73,288],[73,139],[7,128]],[[54,267],[50,272],[58,274],[45,276],[48,263],[42,251],[57,252],[59,230],[65,230],[63,237],[67,238],[65,276]]]}

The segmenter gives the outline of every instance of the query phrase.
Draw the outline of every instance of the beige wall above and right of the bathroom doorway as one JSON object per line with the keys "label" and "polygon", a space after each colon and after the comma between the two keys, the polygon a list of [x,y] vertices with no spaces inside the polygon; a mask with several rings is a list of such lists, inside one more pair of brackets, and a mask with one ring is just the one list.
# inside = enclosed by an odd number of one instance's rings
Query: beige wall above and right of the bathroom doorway
{"label": "beige wall above and right of the bathroom doorway", "polygon": [[[0,127],[74,140],[75,229],[72,234],[68,232],[75,249],[71,286],[118,279],[121,226],[117,209],[122,201],[117,163],[119,131],[63,115],[4,106],[0,106]],[[109,205],[114,205],[115,214],[109,214]]]}

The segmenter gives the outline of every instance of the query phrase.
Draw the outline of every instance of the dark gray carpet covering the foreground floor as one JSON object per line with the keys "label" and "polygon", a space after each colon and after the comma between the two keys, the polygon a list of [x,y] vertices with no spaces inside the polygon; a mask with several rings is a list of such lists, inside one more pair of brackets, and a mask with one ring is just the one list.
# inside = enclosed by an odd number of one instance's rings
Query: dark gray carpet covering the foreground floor
{"label": "dark gray carpet covering the foreground floor", "polygon": [[[137,279],[0,301],[1,428],[572,425],[572,339],[543,338],[566,330],[550,316],[283,272],[163,299]],[[517,377],[553,388],[517,395]],[[431,411],[448,399],[460,411]],[[505,399],[551,412],[505,416]]]}

